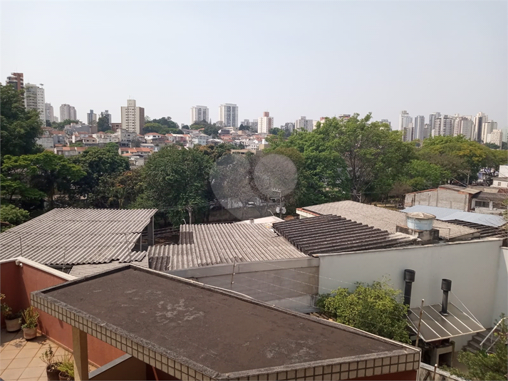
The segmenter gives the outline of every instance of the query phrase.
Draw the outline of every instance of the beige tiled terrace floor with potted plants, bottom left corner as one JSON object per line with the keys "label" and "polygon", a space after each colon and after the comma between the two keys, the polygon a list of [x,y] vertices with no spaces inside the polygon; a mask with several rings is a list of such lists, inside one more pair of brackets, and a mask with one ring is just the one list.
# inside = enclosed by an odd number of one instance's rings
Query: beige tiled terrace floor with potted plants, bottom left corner
{"label": "beige tiled terrace floor with potted plants, bottom left corner", "polygon": [[[41,360],[41,354],[51,344],[56,359],[68,353],[58,347],[46,336],[38,335],[33,340],[26,341],[23,331],[7,332],[1,330],[0,335],[0,378],[4,381],[16,380],[47,380],[46,364]],[[90,367],[94,370],[95,367]]]}

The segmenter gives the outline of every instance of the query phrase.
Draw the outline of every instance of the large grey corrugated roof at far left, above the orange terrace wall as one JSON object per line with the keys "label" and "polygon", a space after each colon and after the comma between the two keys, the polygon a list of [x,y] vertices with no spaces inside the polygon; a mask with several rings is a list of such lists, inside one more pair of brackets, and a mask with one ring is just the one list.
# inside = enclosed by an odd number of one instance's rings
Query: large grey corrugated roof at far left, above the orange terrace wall
{"label": "large grey corrugated roof at far left, above the orange terrace wall", "polygon": [[157,209],[53,209],[0,234],[0,259],[46,265],[140,261],[131,251]]}

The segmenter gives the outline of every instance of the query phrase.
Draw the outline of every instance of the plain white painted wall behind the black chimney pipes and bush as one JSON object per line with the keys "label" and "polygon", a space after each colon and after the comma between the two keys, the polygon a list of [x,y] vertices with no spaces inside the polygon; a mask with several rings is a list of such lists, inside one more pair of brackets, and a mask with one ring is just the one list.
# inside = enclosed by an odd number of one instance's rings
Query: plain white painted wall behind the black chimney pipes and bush
{"label": "plain white painted wall behind the black chimney pipes and bush", "polygon": [[[389,276],[393,286],[403,290],[404,269],[410,268],[416,271],[412,308],[420,306],[422,299],[425,299],[426,305],[441,303],[441,279],[448,278],[452,281],[452,292],[487,328],[507,306],[508,249],[503,249],[502,269],[499,260],[501,244],[501,239],[482,239],[361,253],[323,254],[319,256],[319,293],[328,293],[338,287],[353,290],[355,286],[349,283],[372,283],[383,276]],[[464,310],[457,297],[450,293],[449,301]]]}

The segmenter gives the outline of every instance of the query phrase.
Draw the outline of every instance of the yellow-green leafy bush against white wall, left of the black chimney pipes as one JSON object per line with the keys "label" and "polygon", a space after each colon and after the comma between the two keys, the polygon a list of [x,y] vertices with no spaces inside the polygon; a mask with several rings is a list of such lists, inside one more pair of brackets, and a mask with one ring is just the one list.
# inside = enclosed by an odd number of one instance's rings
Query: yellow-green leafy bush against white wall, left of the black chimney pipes
{"label": "yellow-green leafy bush against white wall, left of the black chimney pipes", "polygon": [[337,323],[410,344],[406,322],[408,306],[399,300],[400,293],[385,280],[371,285],[356,283],[353,292],[337,288],[321,295],[317,306]]}

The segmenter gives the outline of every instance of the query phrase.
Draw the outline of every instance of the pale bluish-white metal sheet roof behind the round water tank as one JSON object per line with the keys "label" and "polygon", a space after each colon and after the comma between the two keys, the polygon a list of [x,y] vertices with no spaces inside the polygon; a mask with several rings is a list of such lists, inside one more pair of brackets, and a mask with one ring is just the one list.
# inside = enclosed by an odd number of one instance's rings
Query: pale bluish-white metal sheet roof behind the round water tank
{"label": "pale bluish-white metal sheet roof behind the round water tank", "polygon": [[[460,220],[465,222],[472,222],[473,224],[481,224],[487,226],[503,226],[507,221],[502,216],[494,216],[493,214],[481,214],[464,212],[458,209],[440,208],[440,207],[429,207],[427,205],[415,205],[403,210],[405,213],[412,212],[424,212],[434,214],[437,219],[442,221]],[[452,222],[455,224],[455,222]]]}

